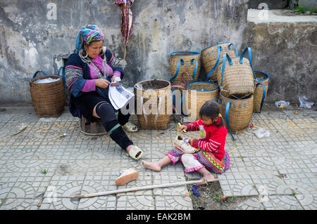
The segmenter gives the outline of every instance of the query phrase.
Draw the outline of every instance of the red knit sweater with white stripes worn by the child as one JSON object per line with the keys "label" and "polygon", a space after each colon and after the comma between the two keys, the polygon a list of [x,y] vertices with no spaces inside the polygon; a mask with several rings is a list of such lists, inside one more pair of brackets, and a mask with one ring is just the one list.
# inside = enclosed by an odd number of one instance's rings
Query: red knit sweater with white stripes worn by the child
{"label": "red knit sweater with white stripes worn by the child", "polygon": [[[217,121],[220,122],[220,119]],[[215,124],[206,126],[201,119],[194,121],[190,124],[185,124],[187,131],[200,131],[201,138],[193,139],[191,145],[197,147],[206,152],[211,152],[219,159],[223,160],[225,156],[225,137],[227,136],[228,130],[225,126],[218,128]]]}

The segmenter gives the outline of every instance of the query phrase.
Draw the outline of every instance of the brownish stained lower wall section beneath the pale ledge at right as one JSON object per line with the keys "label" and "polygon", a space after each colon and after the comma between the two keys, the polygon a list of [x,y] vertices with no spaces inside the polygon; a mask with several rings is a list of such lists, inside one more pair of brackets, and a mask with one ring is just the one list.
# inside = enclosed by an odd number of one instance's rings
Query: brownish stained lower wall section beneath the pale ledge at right
{"label": "brownish stained lower wall section beneath the pale ledge at right", "polygon": [[317,102],[317,22],[247,23],[254,70],[270,75],[268,101]]}

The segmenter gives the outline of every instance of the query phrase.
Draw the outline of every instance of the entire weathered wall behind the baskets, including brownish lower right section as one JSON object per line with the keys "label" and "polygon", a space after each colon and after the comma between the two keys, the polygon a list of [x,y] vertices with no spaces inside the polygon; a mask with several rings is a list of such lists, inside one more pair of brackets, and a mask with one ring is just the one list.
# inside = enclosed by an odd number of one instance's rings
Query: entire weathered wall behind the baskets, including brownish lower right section
{"label": "entire weathered wall behind the baskets, including brownish lower right section", "polygon": [[[75,47],[82,25],[95,24],[118,58],[124,48],[115,0],[1,0],[0,104],[31,103],[29,81],[36,70],[57,72]],[[268,101],[316,102],[316,22],[247,22],[242,0],[135,0],[124,83],[170,79],[173,51],[201,51],[231,41],[241,53],[250,46],[254,68],[268,72]],[[56,19],[51,14],[56,4]],[[54,9],[54,8],[53,8]],[[53,19],[52,19],[53,18]],[[201,77],[204,77],[204,69]]]}

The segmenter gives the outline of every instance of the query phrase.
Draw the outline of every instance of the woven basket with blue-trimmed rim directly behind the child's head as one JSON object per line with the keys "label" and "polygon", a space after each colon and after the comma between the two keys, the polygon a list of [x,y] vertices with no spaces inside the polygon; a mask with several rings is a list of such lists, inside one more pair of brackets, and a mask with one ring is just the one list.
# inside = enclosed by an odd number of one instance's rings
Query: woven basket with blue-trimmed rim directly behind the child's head
{"label": "woven basket with blue-trimmed rim directly behind the child's head", "polygon": [[190,114],[189,120],[199,119],[199,110],[206,101],[216,99],[219,95],[219,86],[209,81],[195,81],[187,84],[186,104]]}

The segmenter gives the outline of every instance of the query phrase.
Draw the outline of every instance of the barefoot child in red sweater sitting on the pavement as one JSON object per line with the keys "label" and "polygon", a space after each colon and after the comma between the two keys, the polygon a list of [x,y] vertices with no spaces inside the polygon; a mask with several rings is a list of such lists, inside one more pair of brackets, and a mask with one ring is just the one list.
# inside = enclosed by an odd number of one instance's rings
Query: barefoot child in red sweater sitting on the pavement
{"label": "barefoot child in red sweater sitting on the pavement", "polygon": [[[158,162],[142,160],[143,166],[154,171],[161,171],[163,166],[170,163],[174,165],[181,161],[185,166],[185,172],[198,171],[204,180],[215,178],[209,171],[223,173],[229,169],[230,157],[225,151],[225,137],[228,130],[223,124],[220,105],[215,101],[207,101],[201,107],[199,116],[201,119],[180,126],[180,131],[200,131],[199,140],[189,140],[189,145],[187,142],[179,140],[177,136],[174,141],[174,145],[177,146],[173,150]],[[192,150],[193,153],[186,153],[190,151],[188,147],[194,147],[197,150]],[[184,150],[185,148],[187,150]]]}

